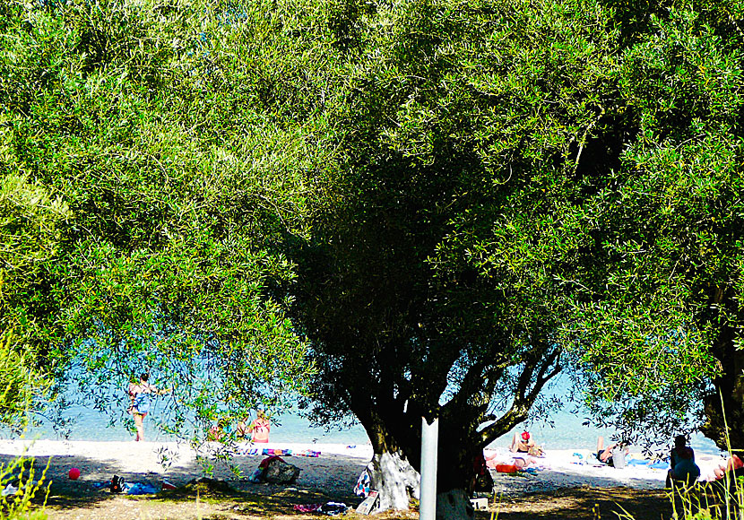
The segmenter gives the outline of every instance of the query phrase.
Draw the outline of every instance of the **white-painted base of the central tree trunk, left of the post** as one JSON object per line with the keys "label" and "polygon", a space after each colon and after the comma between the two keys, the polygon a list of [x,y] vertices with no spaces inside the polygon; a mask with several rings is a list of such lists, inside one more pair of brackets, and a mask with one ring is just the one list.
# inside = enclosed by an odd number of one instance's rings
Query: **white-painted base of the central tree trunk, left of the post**
{"label": "white-painted base of the central tree trunk, left of the post", "polygon": [[388,509],[408,510],[412,498],[419,498],[419,472],[400,451],[376,453],[367,466],[369,489],[379,495],[375,513]]}

